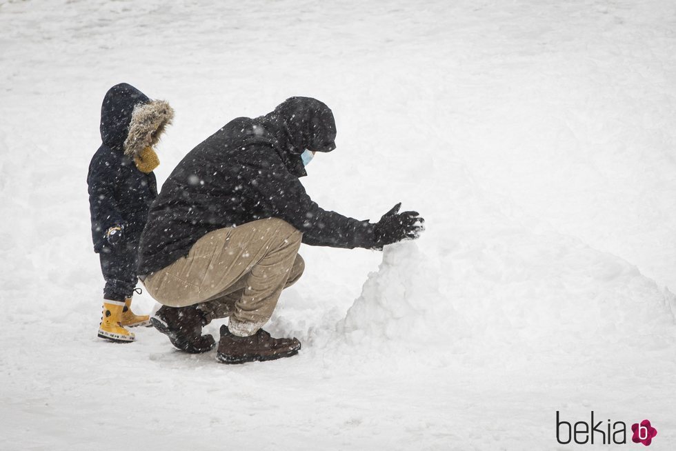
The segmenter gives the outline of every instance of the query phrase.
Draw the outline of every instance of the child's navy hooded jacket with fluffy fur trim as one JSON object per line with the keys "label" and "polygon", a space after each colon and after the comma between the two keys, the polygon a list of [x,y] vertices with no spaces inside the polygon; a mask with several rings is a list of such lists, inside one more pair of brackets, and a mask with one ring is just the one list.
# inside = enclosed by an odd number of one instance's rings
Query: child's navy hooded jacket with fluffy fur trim
{"label": "child's navy hooded jacket with fluffy fur trim", "polygon": [[115,85],[101,105],[101,146],[92,157],[87,183],[95,252],[106,248],[106,231],[123,226],[123,239],[138,242],[150,204],[157,197],[155,174],[137,169],[134,157],[157,143],[171,123],[165,101],[150,100],[127,83]]}

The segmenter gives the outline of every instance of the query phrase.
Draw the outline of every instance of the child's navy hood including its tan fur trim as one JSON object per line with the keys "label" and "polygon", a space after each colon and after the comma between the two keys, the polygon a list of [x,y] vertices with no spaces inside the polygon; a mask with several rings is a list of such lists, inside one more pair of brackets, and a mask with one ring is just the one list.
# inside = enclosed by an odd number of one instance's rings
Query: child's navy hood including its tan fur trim
{"label": "child's navy hood including its tan fur trim", "polygon": [[128,83],[115,85],[101,105],[101,141],[106,146],[135,157],[154,146],[174,117],[166,101],[150,100]]}

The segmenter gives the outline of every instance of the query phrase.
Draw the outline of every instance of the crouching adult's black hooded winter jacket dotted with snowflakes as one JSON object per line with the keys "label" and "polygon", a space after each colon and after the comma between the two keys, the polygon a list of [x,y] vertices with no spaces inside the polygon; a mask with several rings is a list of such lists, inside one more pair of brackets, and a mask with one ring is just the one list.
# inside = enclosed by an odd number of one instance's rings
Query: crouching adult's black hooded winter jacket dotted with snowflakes
{"label": "crouching adult's black hooded winter jacket dotted with snowflakes", "polygon": [[212,230],[277,217],[303,232],[303,242],[375,247],[373,225],[322,210],[306,194],[300,154],[335,148],[331,110],[292,97],[264,117],[240,117],[190,151],[153,203],[139,247],[139,274],[188,254]]}

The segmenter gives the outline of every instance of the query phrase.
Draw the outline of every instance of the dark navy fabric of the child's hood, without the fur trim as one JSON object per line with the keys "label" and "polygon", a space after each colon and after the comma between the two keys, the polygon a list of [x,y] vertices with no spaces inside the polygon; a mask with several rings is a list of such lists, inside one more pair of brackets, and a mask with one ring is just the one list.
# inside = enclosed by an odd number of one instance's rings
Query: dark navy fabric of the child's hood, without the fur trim
{"label": "dark navy fabric of the child's hood, without the fur trim", "polygon": [[106,92],[101,105],[101,141],[110,148],[123,150],[134,107],[150,99],[127,83],[115,85]]}

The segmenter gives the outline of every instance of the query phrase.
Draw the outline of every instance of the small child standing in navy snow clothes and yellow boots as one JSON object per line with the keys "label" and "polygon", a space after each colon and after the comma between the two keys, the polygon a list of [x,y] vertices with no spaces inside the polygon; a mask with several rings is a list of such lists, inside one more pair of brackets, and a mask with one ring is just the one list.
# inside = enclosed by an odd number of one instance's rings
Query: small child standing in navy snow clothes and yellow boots
{"label": "small child standing in navy snow clothes and yellow boots", "polygon": [[106,281],[99,325],[103,339],[134,341],[125,326],[150,325],[148,316],[132,313],[130,305],[139,239],[157,197],[152,170],[159,159],[153,146],[173,116],[166,101],[150,100],[127,83],[113,86],[103,98],[102,143],[87,177],[94,250]]}

